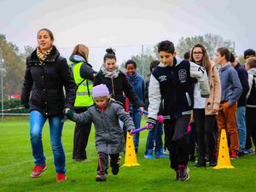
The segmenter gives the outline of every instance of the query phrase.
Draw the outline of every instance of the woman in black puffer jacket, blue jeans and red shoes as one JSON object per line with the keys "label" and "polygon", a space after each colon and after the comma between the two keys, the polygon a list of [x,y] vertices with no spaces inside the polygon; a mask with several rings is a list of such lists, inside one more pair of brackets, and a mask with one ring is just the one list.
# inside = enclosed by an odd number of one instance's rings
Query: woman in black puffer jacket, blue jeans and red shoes
{"label": "woman in black puffer jacket, blue jeans and red shoes", "polygon": [[42,130],[46,119],[49,119],[56,180],[60,182],[67,179],[65,154],[61,143],[62,111],[73,108],[76,84],[66,59],[61,57],[53,45],[53,33],[44,28],[38,31],[37,38],[38,48],[26,58],[26,73],[21,92],[21,104],[30,109],[30,138],[35,163],[31,177],[40,177],[47,169]]}

